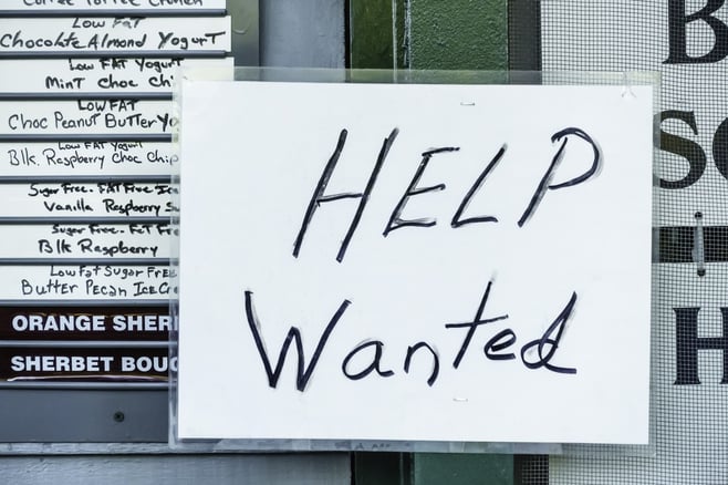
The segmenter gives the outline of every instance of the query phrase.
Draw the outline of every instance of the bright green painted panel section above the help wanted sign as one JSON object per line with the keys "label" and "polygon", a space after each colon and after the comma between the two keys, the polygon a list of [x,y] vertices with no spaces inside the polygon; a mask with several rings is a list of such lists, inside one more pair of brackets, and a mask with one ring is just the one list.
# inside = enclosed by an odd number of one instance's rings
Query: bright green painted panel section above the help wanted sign
{"label": "bright green painted panel section above the help wanted sign", "polygon": [[412,69],[508,69],[507,0],[409,0]]}

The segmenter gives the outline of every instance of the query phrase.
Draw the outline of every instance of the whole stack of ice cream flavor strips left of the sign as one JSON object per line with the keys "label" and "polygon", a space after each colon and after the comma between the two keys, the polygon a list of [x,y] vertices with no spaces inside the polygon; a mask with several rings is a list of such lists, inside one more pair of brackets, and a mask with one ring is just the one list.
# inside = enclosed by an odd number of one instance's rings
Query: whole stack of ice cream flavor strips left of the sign
{"label": "whole stack of ice cream flavor strips left of the sign", "polygon": [[171,90],[230,38],[222,0],[2,1],[0,388],[176,368]]}

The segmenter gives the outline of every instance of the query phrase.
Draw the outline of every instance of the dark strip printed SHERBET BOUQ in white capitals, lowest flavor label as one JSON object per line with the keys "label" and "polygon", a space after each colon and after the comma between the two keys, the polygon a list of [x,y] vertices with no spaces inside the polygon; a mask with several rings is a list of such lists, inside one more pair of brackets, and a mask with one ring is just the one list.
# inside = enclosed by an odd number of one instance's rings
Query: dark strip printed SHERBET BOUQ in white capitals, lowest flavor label
{"label": "dark strip printed SHERBET BOUQ in white capitals, lowest flavor label", "polygon": [[18,382],[75,378],[92,381],[165,381],[177,370],[167,348],[2,348],[0,380]]}

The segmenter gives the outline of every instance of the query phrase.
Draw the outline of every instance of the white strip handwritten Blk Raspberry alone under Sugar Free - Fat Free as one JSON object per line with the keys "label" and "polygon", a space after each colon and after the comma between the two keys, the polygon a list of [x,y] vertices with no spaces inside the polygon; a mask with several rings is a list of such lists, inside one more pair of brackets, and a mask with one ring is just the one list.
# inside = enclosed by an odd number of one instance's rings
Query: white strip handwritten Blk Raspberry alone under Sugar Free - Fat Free
{"label": "white strip handwritten Blk Raspberry alone under Sugar Free - Fat Free", "polygon": [[170,224],[49,224],[6,226],[2,258],[165,258]]}

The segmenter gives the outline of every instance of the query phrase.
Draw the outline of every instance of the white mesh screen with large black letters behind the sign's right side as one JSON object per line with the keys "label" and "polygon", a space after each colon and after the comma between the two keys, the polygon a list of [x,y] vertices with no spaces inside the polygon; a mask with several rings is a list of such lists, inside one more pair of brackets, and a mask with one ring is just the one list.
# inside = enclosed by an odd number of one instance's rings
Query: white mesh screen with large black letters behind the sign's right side
{"label": "white mesh screen with large black letters behind the sign's right side", "polygon": [[511,69],[663,75],[652,444],[642,453],[566,447],[560,456],[522,456],[522,484],[728,484],[726,3],[510,1]]}

